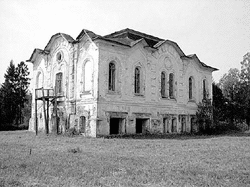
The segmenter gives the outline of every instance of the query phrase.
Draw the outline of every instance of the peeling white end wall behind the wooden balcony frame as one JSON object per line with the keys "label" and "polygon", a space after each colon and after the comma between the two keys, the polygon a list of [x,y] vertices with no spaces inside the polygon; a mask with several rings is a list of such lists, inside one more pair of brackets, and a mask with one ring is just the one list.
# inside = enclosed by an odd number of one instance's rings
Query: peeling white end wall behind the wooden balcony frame
{"label": "peeling white end wall behind the wooden balcony frame", "polygon": [[[56,59],[58,52],[62,60]],[[91,89],[85,92],[83,88],[84,63],[92,65]],[[58,99],[59,131],[64,133],[69,128],[80,129],[80,117],[86,119],[84,134],[96,136],[97,116],[97,85],[98,85],[98,48],[95,43],[83,38],[79,43],[71,44],[62,37],[53,39],[48,55],[39,55],[34,62],[34,88],[55,88],[56,74],[62,72],[62,98]],[[88,71],[88,70],[86,70]],[[42,101],[38,101],[38,130],[44,131],[44,112]],[[49,108],[49,131],[55,130],[53,104]],[[32,101],[32,118],[29,130],[35,131],[35,97]]]}

